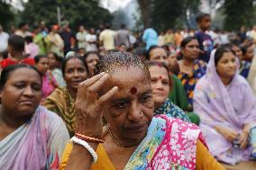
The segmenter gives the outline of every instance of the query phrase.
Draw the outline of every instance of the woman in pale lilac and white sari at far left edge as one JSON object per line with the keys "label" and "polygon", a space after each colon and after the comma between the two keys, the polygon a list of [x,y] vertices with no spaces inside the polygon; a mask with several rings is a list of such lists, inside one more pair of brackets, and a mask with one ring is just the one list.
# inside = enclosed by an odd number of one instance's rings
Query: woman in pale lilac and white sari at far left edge
{"label": "woman in pale lilac and white sari at far left edge", "polygon": [[58,169],[69,133],[55,113],[40,106],[41,74],[24,64],[1,74],[0,167]]}

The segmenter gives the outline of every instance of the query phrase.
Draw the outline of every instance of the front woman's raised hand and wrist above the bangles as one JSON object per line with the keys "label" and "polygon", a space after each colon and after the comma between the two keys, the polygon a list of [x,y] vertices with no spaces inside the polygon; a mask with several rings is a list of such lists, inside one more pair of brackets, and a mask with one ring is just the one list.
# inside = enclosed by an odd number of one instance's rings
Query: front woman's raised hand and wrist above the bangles
{"label": "front woman's raised hand and wrist above the bangles", "polygon": [[108,74],[101,73],[87,79],[78,86],[78,94],[75,102],[77,112],[75,121],[76,132],[90,137],[102,138],[103,105],[118,91],[118,87],[114,86],[98,98],[98,92],[109,78],[110,76]]}

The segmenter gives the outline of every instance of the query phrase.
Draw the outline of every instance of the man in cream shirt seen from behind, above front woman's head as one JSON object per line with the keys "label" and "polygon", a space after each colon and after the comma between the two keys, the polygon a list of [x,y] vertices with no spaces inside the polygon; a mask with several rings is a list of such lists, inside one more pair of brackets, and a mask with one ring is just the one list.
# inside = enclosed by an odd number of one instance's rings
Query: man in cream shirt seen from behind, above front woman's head
{"label": "man in cream shirt seen from behind, above front woman's head", "polygon": [[110,30],[110,24],[105,25],[105,30],[99,34],[100,44],[103,45],[105,50],[114,49],[115,31]]}

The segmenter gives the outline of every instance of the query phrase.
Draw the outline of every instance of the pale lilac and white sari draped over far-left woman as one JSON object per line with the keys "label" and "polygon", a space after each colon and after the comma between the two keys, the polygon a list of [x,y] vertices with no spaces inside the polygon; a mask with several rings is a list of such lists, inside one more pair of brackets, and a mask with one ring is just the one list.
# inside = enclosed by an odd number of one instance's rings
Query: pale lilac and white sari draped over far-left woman
{"label": "pale lilac and white sari draped over far-left woman", "polygon": [[0,167],[59,169],[59,159],[68,140],[68,130],[59,116],[39,106],[30,121],[0,141]]}

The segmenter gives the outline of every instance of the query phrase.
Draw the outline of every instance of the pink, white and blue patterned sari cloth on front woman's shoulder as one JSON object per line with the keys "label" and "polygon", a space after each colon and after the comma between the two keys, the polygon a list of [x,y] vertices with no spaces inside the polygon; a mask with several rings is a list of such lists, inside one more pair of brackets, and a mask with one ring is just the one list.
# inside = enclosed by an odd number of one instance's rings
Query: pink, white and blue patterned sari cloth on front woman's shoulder
{"label": "pink, white and blue patterned sari cloth on front woman's shoulder", "polygon": [[124,170],[196,169],[198,139],[205,144],[196,125],[167,115],[154,117]]}

